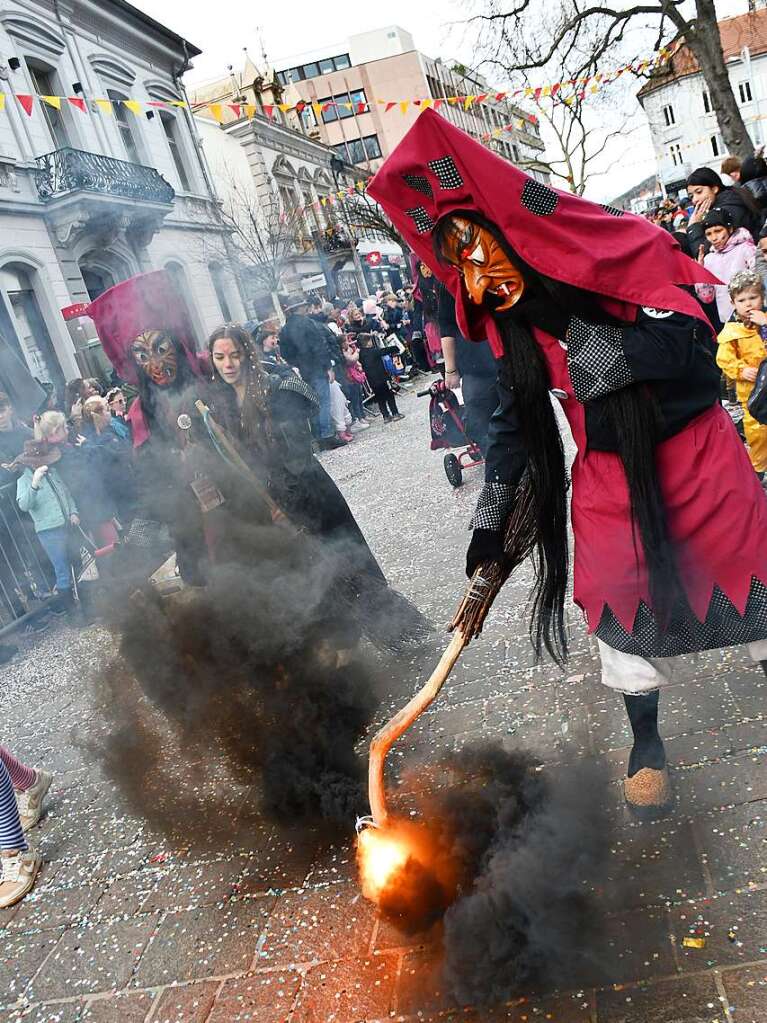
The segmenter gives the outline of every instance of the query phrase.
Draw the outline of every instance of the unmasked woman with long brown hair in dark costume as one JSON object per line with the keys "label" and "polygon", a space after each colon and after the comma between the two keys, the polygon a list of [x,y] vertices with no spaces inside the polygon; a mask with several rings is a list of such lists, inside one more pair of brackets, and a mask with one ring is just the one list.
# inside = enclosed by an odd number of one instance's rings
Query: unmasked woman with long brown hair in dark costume
{"label": "unmasked woman with long brown hair in dark costume", "polygon": [[235,324],[209,340],[210,401],[289,522],[316,537],[340,566],[340,607],[386,644],[421,632],[424,620],[391,589],[343,494],[312,452],[317,395],[288,366],[264,366],[249,332]]}

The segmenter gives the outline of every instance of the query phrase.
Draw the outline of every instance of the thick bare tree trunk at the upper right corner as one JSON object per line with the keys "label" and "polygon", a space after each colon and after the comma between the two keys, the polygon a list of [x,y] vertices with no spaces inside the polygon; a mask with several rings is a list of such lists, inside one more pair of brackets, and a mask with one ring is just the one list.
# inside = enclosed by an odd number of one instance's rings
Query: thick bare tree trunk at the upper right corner
{"label": "thick bare tree trunk at the upper right corner", "polygon": [[696,17],[684,41],[701,65],[724,147],[731,157],[752,157],[754,143],[746,130],[722,52],[714,0],[695,0]]}

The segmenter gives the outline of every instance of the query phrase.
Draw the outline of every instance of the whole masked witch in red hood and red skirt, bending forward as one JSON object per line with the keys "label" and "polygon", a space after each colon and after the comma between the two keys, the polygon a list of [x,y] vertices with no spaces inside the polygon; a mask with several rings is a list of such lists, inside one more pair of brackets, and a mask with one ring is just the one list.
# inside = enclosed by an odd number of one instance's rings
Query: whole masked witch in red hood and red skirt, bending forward
{"label": "whole masked witch in red hood and red skirt, bending forward", "polygon": [[531,637],[559,663],[569,577],[602,681],[624,695],[634,744],[626,800],[671,800],[658,730],[674,659],[748,643],[767,659],[767,498],[719,404],[712,331],[685,287],[712,282],[646,220],[533,180],[432,110],[370,183],[456,300],[466,338],[500,359],[486,483],[467,569],[501,560],[517,487],[537,530]]}

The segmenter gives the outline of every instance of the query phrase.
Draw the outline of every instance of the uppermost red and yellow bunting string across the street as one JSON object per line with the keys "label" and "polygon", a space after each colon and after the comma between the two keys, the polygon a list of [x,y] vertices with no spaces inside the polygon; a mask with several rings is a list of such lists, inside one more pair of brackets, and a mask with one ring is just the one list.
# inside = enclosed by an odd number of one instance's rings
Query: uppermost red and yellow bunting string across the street
{"label": "uppermost red and yellow bunting string across the street", "polygon": [[[352,102],[351,99],[342,100],[335,98],[327,99],[323,102],[318,102],[317,100],[307,101],[302,99],[297,103],[263,103],[261,105],[257,105],[256,103],[230,103],[223,100],[189,104],[182,99],[139,100],[129,98],[111,100],[100,97],[88,99],[83,96],[44,96],[35,93],[0,93],[0,110],[7,109],[7,99],[9,97],[16,100],[28,117],[32,117],[33,115],[35,109],[35,100],[39,103],[45,103],[49,106],[53,106],[56,109],[61,109],[62,104],[66,102],[69,105],[80,110],[82,114],[86,114],[88,112],[90,104],[91,109],[98,110],[105,115],[114,115],[115,103],[120,103],[136,117],[151,108],[189,108],[191,105],[191,109],[195,112],[207,108],[216,121],[223,123],[228,112],[233,114],[237,119],[246,118],[250,121],[253,120],[257,114],[264,114],[268,118],[273,118],[277,110],[281,114],[287,114],[292,110],[301,115],[307,108],[312,109],[317,120],[320,120],[329,109],[344,110],[347,114],[352,115],[362,115],[369,114],[373,106],[379,107],[384,114],[389,114],[395,109],[398,109],[401,114],[407,114],[411,107],[417,107],[419,109],[432,107],[438,110],[445,103],[450,106],[460,106],[464,110],[469,110],[482,103],[497,103],[502,100],[532,99],[535,103],[539,103],[542,99],[556,98],[560,95],[560,93],[565,91],[570,92],[570,90],[573,90],[573,93],[572,96],[569,96],[568,98],[570,101],[574,101],[575,98],[583,99],[587,94],[598,92],[599,89],[603,88],[605,85],[611,85],[613,82],[617,82],[625,74],[643,74],[661,66],[674,56],[681,45],[683,45],[682,42],[679,42],[672,48],[664,47],[655,57],[648,57],[643,60],[632,60],[631,62],[623,64],[620,68],[616,68],[611,72],[604,73],[597,71],[594,75],[589,75],[585,78],[571,78],[562,80],[561,82],[553,82],[549,85],[540,85],[536,87],[526,85],[520,89],[489,91],[461,96],[443,96],[438,98],[427,97],[425,99],[375,98],[367,102]],[[568,99],[565,101],[567,102]],[[535,114],[525,114],[523,117],[515,119],[514,122],[516,127],[520,129],[524,129],[529,124],[535,125],[537,123],[538,118]],[[512,130],[511,123],[488,133],[487,138],[494,136],[497,137],[496,132],[500,134],[502,131],[510,130]]]}

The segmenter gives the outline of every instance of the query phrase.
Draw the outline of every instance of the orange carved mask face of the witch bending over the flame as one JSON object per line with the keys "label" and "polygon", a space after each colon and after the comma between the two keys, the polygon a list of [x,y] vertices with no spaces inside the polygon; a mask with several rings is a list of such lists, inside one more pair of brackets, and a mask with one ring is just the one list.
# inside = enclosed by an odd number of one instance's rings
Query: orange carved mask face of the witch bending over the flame
{"label": "orange carved mask face of the witch bending over the flame", "polygon": [[456,267],[475,305],[494,297],[496,312],[506,312],[525,293],[525,279],[494,235],[460,216],[448,218],[445,259]]}

